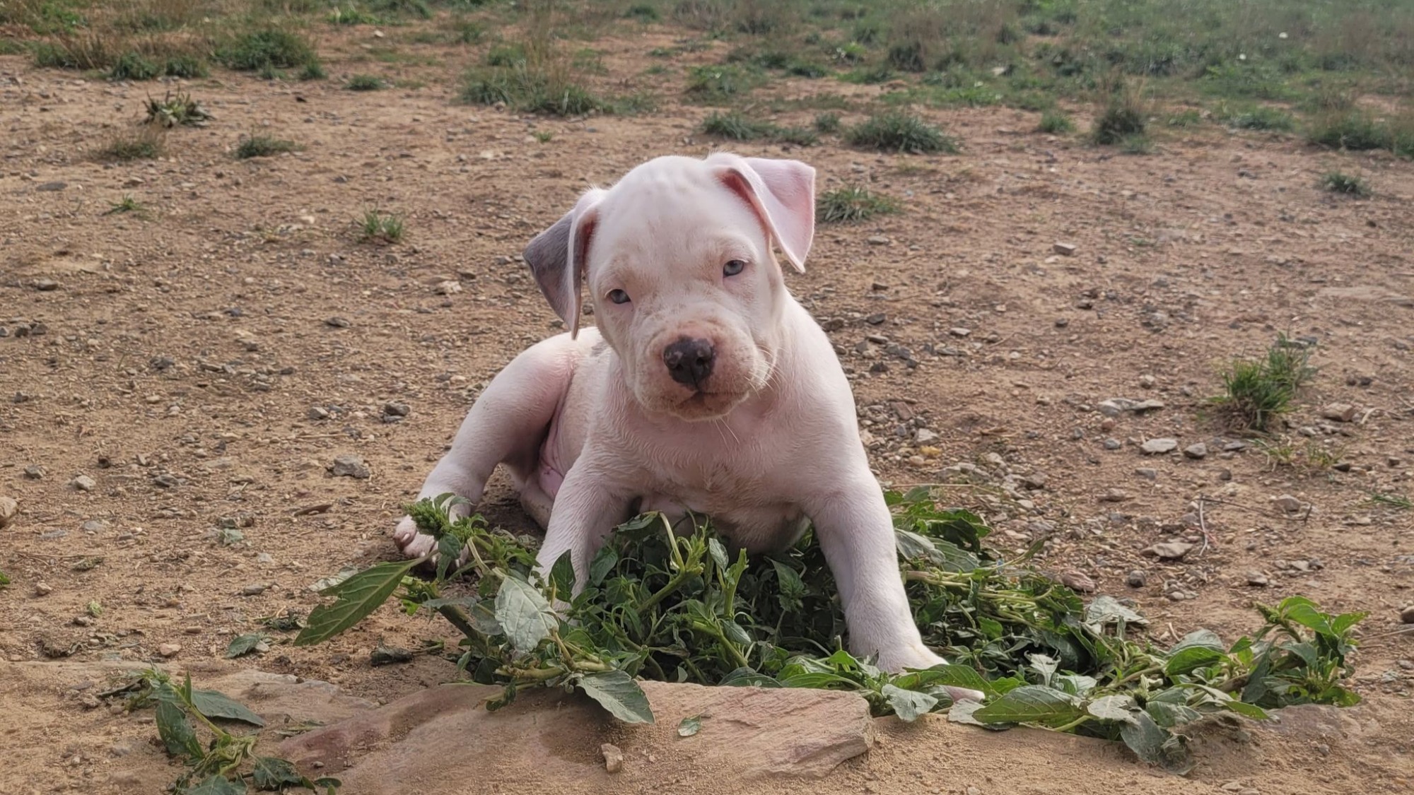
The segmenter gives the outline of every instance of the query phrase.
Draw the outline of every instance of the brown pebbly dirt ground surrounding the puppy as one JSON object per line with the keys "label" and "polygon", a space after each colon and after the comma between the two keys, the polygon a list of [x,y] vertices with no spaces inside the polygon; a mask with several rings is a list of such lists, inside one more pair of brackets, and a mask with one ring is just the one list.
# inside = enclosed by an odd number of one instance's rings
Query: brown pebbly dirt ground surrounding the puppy
{"label": "brown pebbly dirt ground surrounding the puppy", "polygon": [[[328,82],[192,81],[184,88],[216,120],[174,130],[165,158],[115,166],[89,150],[164,86],[0,58],[0,497],[20,505],[0,530],[10,663],[201,671],[260,617],[307,611],[318,577],[392,559],[399,506],[479,388],[559,331],[515,260],[523,245],[587,184],[715,146],[694,134],[707,109],[672,99],[677,78],[641,75],[666,34],[598,42],[607,74],[594,78],[660,88],[662,108],[581,120],[455,105],[452,76],[472,51],[400,41],[399,62],[359,62],[375,44],[387,42],[370,28],[327,35]],[[339,88],[368,71],[428,86]],[[802,79],[766,91],[878,89]],[[1100,765],[1127,792],[1408,791],[1414,634],[1398,613],[1414,603],[1414,511],[1372,494],[1414,495],[1414,164],[1216,126],[1128,157],[1034,133],[1035,115],[1019,110],[926,116],[963,154],[884,156],[833,137],[734,147],[803,158],[822,188],[865,182],[906,208],[822,228],[807,273],[788,276],[843,351],[881,480],[936,482],[976,464],[981,482],[956,488],[957,504],[1015,549],[1049,536],[1046,566],[1133,597],[1161,641],[1198,627],[1236,638],[1257,624],[1254,601],[1288,594],[1369,611],[1356,676],[1366,704],[1324,734],[1203,743],[1186,781],[1096,743],[946,727],[887,738],[810,789],[1069,792]],[[304,149],[235,160],[252,130]],[[1363,174],[1373,198],[1321,191],[1333,167]],[[106,214],[124,194],[147,214]],[[406,216],[402,245],[359,242],[355,218],[372,207]],[[1055,253],[1058,242],[1075,255]],[[1234,437],[1205,405],[1223,362],[1278,332],[1314,341],[1319,368],[1282,431],[1295,465],[1227,450]],[[1164,407],[1109,419],[1097,406],[1111,398]],[[1321,416],[1336,402],[1355,406],[1353,422]],[[901,424],[937,439],[921,450]],[[1155,437],[1208,454],[1144,455]],[[1315,451],[1338,465],[1314,465]],[[331,475],[345,454],[370,477]],[[988,488],[1007,474],[1039,488],[1025,502]],[[496,482],[488,515],[529,529]],[[1200,495],[1212,499],[1199,508]],[[1281,495],[1309,509],[1285,515]],[[1176,563],[1140,555],[1196,536],[1193,515],[1210,549]],[[222,526],[243,540],[222,543]],[[1135,570],[1141,587],[1127,584]],[[372,668],[369,652],[441,634],[386,607],[329,644],[277,644],[242,663],[390,700],[452,666]],[[6,699],[0,791],[124,791],[109,778],[123,738],[167,764],[144,744],[150,723],[92,709],[68,671]],[[949,770],[986,778],[939,778]]]}

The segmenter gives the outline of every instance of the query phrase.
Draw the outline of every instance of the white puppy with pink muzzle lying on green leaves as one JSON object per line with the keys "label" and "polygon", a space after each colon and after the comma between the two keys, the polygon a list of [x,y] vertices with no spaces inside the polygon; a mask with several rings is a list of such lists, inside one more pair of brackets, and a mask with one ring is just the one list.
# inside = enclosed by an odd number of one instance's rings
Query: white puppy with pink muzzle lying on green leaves
{"label": "white puppy with pink muzzle lying on green leaves", "polygon": [[[491,382],[420,497],[475,504],[506,464],[546,529],[539,566],[570,550],[580,583],[635,512],[704,513],[749,552],[813,522],[851,651],[889,671],[943,662],[909,613],[850,385],[772,253],[805,270],[813,236],[814,168],[793,160],[659,157],[590,190],[525,250],[571,331]],[[585,286],[597,328],[581,331]],[[395,538],[433,546],[406,518]]]}

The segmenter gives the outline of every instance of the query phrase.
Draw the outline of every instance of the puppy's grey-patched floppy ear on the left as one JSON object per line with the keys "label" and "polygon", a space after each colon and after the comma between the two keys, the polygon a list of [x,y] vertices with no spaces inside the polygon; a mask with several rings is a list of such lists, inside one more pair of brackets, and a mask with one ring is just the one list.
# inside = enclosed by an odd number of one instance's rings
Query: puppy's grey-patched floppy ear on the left
{"label": "puppy's grey-patched floppy ear on the left", "polygon": [[530,265],[530,273],[540,284],[540,291],[550,301],[550,308],[570,328],[571,337],[580,334],[580,315],[584,306],[580,293],[584,284],[590,239],[598,225],[597,205],[604,194],[605,191],[598,188],[587,191],[580,197],[574,209],[536,235],[522,255]]}

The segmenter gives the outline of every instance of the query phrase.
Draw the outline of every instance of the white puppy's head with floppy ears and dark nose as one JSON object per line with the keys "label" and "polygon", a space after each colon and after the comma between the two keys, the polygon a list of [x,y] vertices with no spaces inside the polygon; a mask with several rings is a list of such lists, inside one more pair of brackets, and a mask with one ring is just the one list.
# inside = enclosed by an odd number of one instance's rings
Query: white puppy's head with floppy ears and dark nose
{"label": "white puppy's head with floppy ears and dark nose", "polygon": [[706,420],[765,389],[786,290],[814,236],[814,168],[718,153],[659,157],[574,209],[525,250],[554,311],[578,331],[583,286],[633,398]]}

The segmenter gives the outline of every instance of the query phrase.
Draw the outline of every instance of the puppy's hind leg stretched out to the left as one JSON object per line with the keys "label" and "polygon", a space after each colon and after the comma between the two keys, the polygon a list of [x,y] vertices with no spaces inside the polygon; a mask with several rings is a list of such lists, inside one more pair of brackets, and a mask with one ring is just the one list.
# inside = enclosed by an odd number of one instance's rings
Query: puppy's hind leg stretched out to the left
{"label": "puppy's hind leg stretched out to the left", "polygon": [[[417,498],[455,494],[475,505],[501,463],[533,478],[540,440],[570,385],[577,359],[578,348],[567,334],[537,342],[512,359],[477,398],[451,450],[433,467]],[[458,506],[452,518],[468,512],[469,508]],[[409,516],[397,523],[393,540],[409,557],[421,557],[436,545],[433,536],[417,532]]]}

